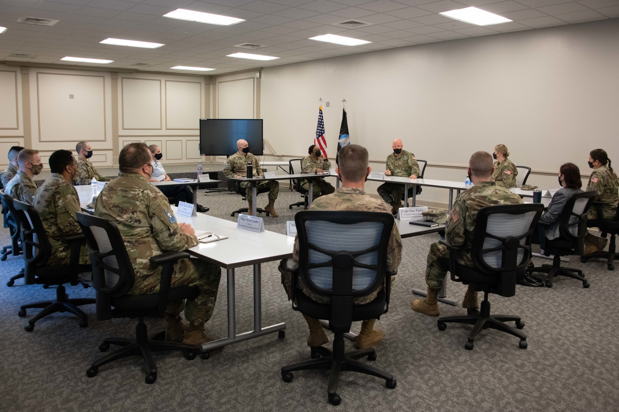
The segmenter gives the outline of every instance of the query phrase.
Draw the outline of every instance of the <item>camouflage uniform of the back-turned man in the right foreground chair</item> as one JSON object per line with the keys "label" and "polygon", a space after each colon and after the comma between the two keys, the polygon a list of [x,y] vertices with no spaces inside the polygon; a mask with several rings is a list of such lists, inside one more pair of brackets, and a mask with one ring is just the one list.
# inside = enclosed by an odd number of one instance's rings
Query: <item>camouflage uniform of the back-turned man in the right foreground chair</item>
{"label": "camouflage uniform of the back-turned man in the right foreground chair", "polygon": [[[465,246],[464,250],[456,252],[457,262],[464,266],[473,266],[470,247],[473,244],[477,213],[482,208],[522,203],[524,202],[519,195],[512,193],[506,187],[496,186],[493,182],[479,182],[457,195],[445,223],[447,241],[453,246]],[[446,246],[434,242],[430,245],[425,273],[426,283],[430,289],[437,290],[443,287],[447,266],[444,265],[446,262],[441,262],[441,259],[449,259],[449,251]]]}

